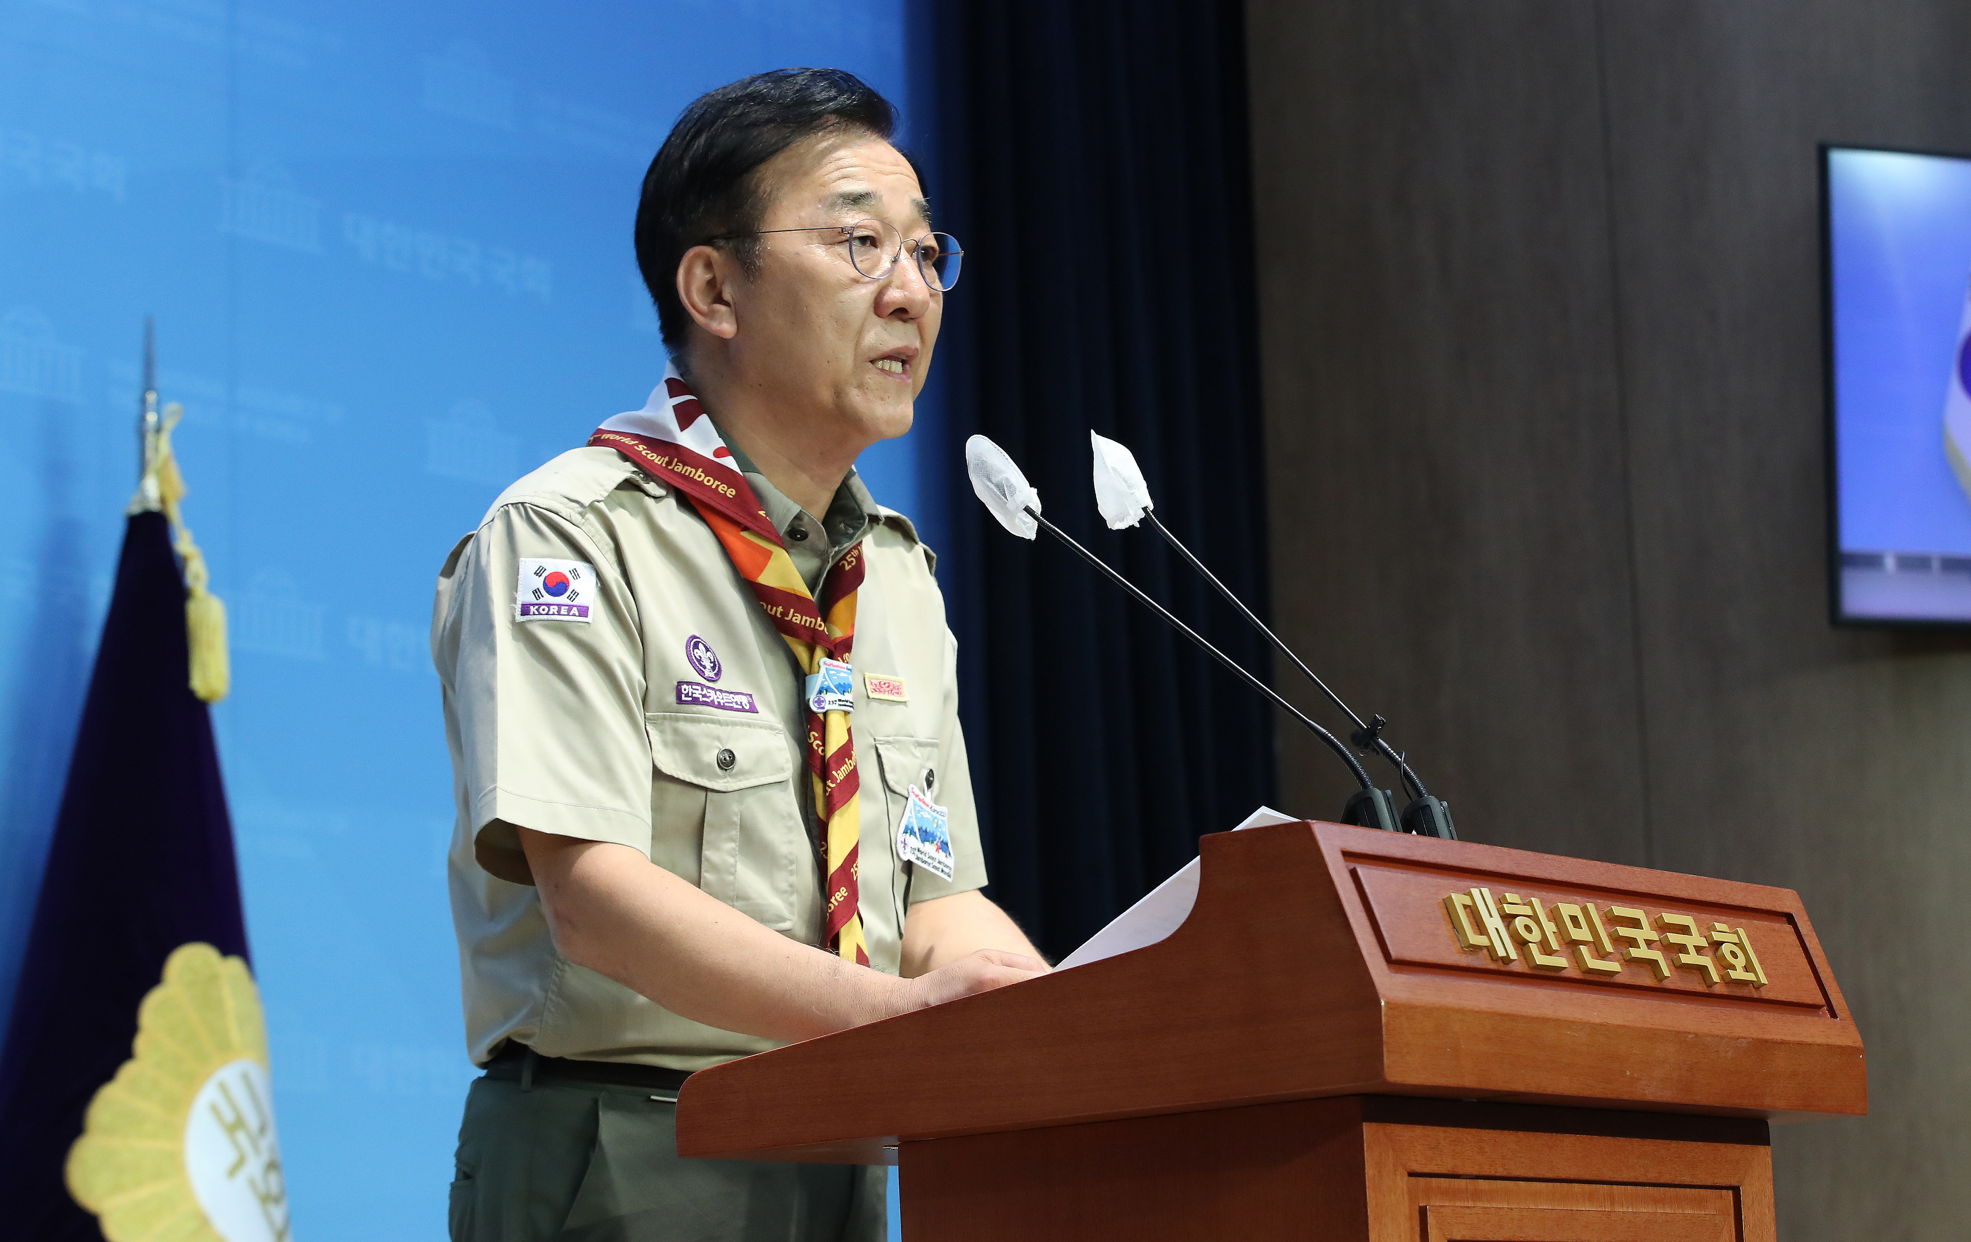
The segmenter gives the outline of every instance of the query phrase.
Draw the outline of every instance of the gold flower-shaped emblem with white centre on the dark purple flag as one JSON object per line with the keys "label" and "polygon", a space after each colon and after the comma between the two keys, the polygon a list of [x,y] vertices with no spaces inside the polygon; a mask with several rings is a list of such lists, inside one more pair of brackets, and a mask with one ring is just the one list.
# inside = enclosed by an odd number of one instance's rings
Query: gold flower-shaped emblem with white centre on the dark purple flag
{"label": "gold flower-shaped emblem with white centre on the dark purple flag", "polygon": [[138,1005],[130,1061],[89,1102],[69,1193],[108,1242],[286,1242],[260,992],[181,944]]}

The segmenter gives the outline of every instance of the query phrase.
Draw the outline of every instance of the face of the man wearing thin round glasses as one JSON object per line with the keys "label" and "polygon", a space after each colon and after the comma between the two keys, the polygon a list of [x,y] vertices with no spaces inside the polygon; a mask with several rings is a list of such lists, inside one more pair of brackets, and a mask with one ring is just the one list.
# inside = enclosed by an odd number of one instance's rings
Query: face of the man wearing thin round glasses
{"label": "face of the man wearing thin round glasses", "polygon": [[[930,231],[911,164],[881,138],[824,134],[767,162],[773,195],[761,229],[853,225],[877,219],[905,239]],[[812,432],[861,444],[911,430],[924,386],[944,294],[928,288],[909,248],[881,280],[850,260],[832,229],[773,233],[757,280],[735,298],[733,361],[745,384],[788,414],[820,420]]]}

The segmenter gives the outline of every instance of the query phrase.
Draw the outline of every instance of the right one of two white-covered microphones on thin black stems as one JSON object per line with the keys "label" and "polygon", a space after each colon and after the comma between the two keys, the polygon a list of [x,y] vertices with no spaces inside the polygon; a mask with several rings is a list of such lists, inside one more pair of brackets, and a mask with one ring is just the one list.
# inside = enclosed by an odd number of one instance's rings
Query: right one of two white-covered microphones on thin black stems
{"label": "right one of two white-covered microphones on thin black stems", "polygon": [[[1171,534],[1169,526],[1157,520],[1155,505],[1149,499],[1149,483],[1143,481],[1143,471],[1135,463],[1135,453],[1106,436],[1098,436],[1096,432],[1088,432],[1088,440],[1094,446],[1096,509],[1102,511],[1102,520],[1108,522],[1110,530],[1125,530],[1139,524],[1147,517],[1151,528],[1161,534],[1167,544],[1177,548],[1177,554],[1183,556],[1190,568],[1204,578],[1204,582],[1212,584],[1212,587],[1224,595],[1226,603],[1236,607],[1254,629],[1265,635],[1281,655],[1293,660],[1293,664],[1307,674],[1307,680],[1319,686],[1321,692],[1326,694],[1328,700],[1356,724],[1354,733],[1350,733],[1348,739],[1364,751],[1376,751],[1395,765],[1397,781],[1409,794],[1413,794],[1413,800],[1401,814],[1403,832],[1453,842],[1459,840],[1457,828],[1451,824],[1451,808],[1445,806],[1441,798],[1433,798],[1431,793],[1423,789],[1423,781],[1417,779],[1417,773],[1411,771],[1405,755],[1392,749],[1390,743],[1382,739],[1382,731],[1390,725],[1390,722],[1382,716],[1370,716],[1366,722],[1356,716],[1354,710],[1344,704],[1342,698],[1334,694],[1334,690],[1330,690],[1313,668],[1307,666],[1307,660],[1295,655],[1293,649],[1265,625],[1265,621],[1261,621],[1238,595],[1232,593],[1232,587],[1218,582],[1218,576],[1206,570],[1204,562],[1192,556],[1190,548]],[[1388,791],[1368,787],[1348,798],[1348,808],[1342,814],[1348,816],[1344,820],[1348,824],[1360,824],[1364,828],[1393,828],[1393,810],[1395,804]]]}

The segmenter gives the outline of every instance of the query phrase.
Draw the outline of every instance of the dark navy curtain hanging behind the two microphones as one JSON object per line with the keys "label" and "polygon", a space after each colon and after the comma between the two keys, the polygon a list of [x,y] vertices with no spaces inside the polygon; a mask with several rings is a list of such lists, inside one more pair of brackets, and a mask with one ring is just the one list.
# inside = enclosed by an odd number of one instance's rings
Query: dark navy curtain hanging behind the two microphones
{"label": "dark navy curtain hanging behind the two microphones", "polygon": [[[1157,515],[1265,615],[1265,493],[1238,4],[920,6],[913,118],[966,246],[938,369],[960,641],[991,895],[1066,954],[1273,793],[1271,710],[1045,534],[974,503],[962,444],[1019,461],[1047,517],[1216,639],[1269,658],[1147,526],[1094,507],[1088,432],[1135,449]],[[928,120],[928,124],[926,124]],[[928,132],[926,132],[928,130]]]}

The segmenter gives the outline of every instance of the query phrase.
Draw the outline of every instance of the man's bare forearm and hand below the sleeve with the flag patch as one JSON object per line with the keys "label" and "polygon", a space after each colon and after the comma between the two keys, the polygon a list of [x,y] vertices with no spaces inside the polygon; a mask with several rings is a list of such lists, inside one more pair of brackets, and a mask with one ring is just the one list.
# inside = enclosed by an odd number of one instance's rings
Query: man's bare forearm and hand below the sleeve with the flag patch
{"label": "man's bare forearm and hand below the sleeve with the flag patch", "polygon": [[[1047,970],[986,950],[899,980],[769,931],[629,846],[530,828],[518,836],[562,956],[725,1031],[814,1039]],[[924,905],[936,903],[917,909]]]}

